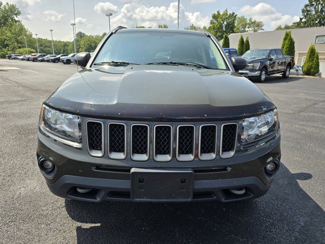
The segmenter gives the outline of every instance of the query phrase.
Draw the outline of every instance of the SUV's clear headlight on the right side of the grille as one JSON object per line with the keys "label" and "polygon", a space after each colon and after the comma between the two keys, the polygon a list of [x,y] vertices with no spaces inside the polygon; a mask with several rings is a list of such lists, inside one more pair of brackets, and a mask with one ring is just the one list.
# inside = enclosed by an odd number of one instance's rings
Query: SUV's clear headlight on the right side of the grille
{"label": "SUV's clear headlight on the right side of the grille", "polygon": [[279,127],[278,112],[274,109],[271,112],[243,119],[241,143],[256,142],[277,131]]}

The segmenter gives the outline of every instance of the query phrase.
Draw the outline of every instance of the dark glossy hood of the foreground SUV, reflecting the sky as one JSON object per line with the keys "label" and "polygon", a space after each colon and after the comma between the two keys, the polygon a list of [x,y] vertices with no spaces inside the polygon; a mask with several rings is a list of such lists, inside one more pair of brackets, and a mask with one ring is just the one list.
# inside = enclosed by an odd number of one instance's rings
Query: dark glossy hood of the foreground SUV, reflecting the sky
{"label": "dark glossy hood of the foreground SUV, reflecting the sky", "polygon": [[257,86],[237,73],[163,65],[84,69],[45,103],[89,117],[139,120],[217,120],[274,108]]}

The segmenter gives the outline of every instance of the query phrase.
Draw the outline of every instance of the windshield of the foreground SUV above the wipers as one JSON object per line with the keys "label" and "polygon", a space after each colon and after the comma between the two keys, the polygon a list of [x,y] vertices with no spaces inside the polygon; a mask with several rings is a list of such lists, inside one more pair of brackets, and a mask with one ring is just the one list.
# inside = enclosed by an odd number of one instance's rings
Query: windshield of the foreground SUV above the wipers
{"label": "windshield of the foreground SUV above the wipers", "polygon": [[116,33],[106,41],[94,60],[95,65],[110,62],[141,65],[191,63],[228,70],[219,49],[209,37],[171,32]]}

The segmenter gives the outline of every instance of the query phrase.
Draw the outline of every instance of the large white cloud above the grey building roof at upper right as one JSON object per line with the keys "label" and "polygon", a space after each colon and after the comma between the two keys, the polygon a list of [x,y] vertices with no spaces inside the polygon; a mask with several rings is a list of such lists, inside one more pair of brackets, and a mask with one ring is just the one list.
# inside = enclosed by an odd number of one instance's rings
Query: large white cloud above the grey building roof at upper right
{"label": "large white cloud above the grey building roof at upper right", "polygon": [[238,12],[245,16],[253,17],[256,20],[263,21],[273,28],[279,24],[291,24],[299,20],[299,16],[282,15],[274,7],[266,3],[259,3],[255,6],[245,5]]}

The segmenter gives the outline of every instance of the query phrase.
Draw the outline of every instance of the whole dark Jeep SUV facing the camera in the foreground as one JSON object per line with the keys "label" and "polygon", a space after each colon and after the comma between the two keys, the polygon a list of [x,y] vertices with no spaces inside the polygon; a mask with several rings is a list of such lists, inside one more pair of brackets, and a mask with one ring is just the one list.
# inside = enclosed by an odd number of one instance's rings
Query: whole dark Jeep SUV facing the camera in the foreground
{"label": "whole dark Jeep SUV facing the camera in the foreground", "polygon": [[43,103],[37,159],[52,193],[232,202],[268,191],[280,165],[279,120],[236,73],[244,58],[230,60],[203,30],[119,26],[105,39],[92,57],[75,56],[83,69]]}

